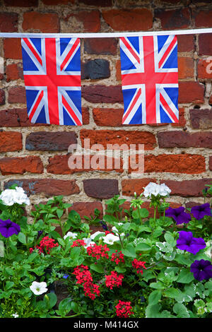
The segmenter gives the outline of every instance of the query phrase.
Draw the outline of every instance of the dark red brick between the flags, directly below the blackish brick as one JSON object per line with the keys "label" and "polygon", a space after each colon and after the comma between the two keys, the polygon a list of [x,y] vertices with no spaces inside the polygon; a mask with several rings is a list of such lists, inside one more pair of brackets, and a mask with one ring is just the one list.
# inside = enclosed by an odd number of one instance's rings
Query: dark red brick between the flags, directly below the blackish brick
{"label": "dark red brick between the flags, directly below the blackish brick", "polygon": [[123,103],[121,85],[82,85],[82,97],[93,103]]}

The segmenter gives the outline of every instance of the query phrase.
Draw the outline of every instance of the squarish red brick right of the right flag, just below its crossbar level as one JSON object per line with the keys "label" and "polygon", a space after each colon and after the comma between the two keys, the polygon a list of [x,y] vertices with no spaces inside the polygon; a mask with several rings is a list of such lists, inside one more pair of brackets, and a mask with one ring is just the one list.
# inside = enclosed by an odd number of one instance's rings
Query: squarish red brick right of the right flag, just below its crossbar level
{"label": "squarish red brick right of the right flag, just below its crossbar level", "polygon": [[194,81],[179,82],[179,104],[192,102],[204,103],[204,85]]}

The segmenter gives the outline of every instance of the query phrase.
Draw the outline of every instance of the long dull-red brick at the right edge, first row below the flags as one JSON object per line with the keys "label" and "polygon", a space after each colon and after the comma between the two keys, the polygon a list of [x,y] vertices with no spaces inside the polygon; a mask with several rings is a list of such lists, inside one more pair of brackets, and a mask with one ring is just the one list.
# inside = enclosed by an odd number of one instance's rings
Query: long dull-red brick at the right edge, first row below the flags
{"label": "long dull-red brick at the right edge, first row below the flags", "polygon": [[212,133],[200,131],[161,131],[158,133],[160,148],[212,148]]}

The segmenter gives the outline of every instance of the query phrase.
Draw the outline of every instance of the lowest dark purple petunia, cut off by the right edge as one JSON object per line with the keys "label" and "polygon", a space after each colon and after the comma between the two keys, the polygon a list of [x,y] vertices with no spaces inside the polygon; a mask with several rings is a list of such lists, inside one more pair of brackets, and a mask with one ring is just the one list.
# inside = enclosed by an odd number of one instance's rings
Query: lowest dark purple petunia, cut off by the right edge
{"label": "lowest dark purple petunia, cut off by the right edge", "polygon": [[212,278],[212,265],[210,261],[205,261],[201,259],[200,261],[194,261],[191,265],[190,271],[194,273],[194,278],[196,280],[208,280]]}

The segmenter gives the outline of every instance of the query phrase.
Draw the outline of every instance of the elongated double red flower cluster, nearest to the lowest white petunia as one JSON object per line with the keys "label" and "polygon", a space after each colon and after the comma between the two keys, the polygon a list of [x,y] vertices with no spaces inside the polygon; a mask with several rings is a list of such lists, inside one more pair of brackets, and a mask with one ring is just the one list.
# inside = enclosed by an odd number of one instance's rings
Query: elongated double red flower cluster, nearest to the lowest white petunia
{"label": "elongated double red flower cluster, nearest to the lowest white petunia", "polygon": [[76,276],[78,284],[83,284],[83,290],[85,295],[90,297],[91,300],[94,300],[96,296],[100,296],[100,290],[98,285],[93,283],[93,278],[88,271],[88,266],[82,265],[77,266],[73,269],[73,274]]}

